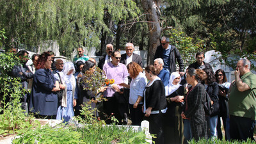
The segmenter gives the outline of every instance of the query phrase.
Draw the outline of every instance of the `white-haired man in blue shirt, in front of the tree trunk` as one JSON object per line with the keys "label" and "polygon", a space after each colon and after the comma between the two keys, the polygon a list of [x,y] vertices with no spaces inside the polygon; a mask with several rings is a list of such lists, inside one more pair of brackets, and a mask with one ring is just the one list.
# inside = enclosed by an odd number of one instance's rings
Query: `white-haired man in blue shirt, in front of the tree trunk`
{"label": "white-haired man in blue shirt, in front of the tree trunk", "polygon": [[154,60],[154,67],[159,70],[159,74],[157,75],[164,83],[164,86],[167,86],[169,83],[170,73],[163,68],[164,61],[161,58],[157,58]]}

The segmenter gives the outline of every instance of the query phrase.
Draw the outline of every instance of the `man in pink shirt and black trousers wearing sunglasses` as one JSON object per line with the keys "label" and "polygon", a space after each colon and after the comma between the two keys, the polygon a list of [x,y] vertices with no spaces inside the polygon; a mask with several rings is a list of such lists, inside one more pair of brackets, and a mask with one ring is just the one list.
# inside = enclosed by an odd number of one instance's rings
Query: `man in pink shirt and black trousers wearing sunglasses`
{"label": "man in pink shirt and black trousers wearing sunglasses", "polygon": [[[123,63],[120,63],[121,54],[119,51],[114,51],[111,54],[112,61],[103,65],[103,70],[106,73],[107,79],[114,79],[115,83],[110,84],[108,89],[103,93],[104,97],[108,99],[104,101],[104,111],[108,116],[114,115],[119,121],[119,124],[125,124],[122,120],[125,119],[125,113],[128,105],[125,104],[124,94],[120,83],[128,84],[128,70]],[[111,124],[111,120],[106,120],[107,124]]]}

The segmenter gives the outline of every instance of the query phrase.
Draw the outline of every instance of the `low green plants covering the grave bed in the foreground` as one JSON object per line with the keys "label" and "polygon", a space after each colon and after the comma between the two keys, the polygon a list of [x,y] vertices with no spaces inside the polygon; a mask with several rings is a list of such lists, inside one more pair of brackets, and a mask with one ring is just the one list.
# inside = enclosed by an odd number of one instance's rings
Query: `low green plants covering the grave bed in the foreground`
{"label": "low green plants covering the grave bed in the foreground", "polygon": [[29,127],[19,131],[20,138],[13,143],[146,143],[144,132],[135,132],[129,127],[93,124],[84,127],[59,125],[58,127]]}

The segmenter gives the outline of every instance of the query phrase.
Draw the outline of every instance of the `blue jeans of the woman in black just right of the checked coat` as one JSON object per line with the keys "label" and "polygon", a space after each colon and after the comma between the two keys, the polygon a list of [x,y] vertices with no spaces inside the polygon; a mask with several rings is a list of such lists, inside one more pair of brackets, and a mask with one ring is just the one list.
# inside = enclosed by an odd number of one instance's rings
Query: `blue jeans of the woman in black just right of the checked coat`
{"label": "blue jeans of the woman in black just right of the checked coat", "polygon": [[208,127],[210,129],[209,138],[217,138],[217,124],[218,124],[218,115],[209,116]]}

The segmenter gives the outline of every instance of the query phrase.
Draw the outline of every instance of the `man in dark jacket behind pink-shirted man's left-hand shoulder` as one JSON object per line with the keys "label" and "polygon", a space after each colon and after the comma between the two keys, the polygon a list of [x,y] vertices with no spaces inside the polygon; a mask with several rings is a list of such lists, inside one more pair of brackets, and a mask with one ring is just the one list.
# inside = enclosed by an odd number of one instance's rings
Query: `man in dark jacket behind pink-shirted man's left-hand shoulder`
{"label": "man in dark jacket behind pink-shirted man's left-hand shoulder", "polygon": [[99,58],[98,67],[101,70],[102,70],[103,65],[105,63],[108,63],[109,61],[111,61],[111,54],[113,52],[113,45],[112,44],[107,44],[106,45],[106,52],[107,52],[107,54],[104,54],[103,56],[100,56],[100,58]]}

